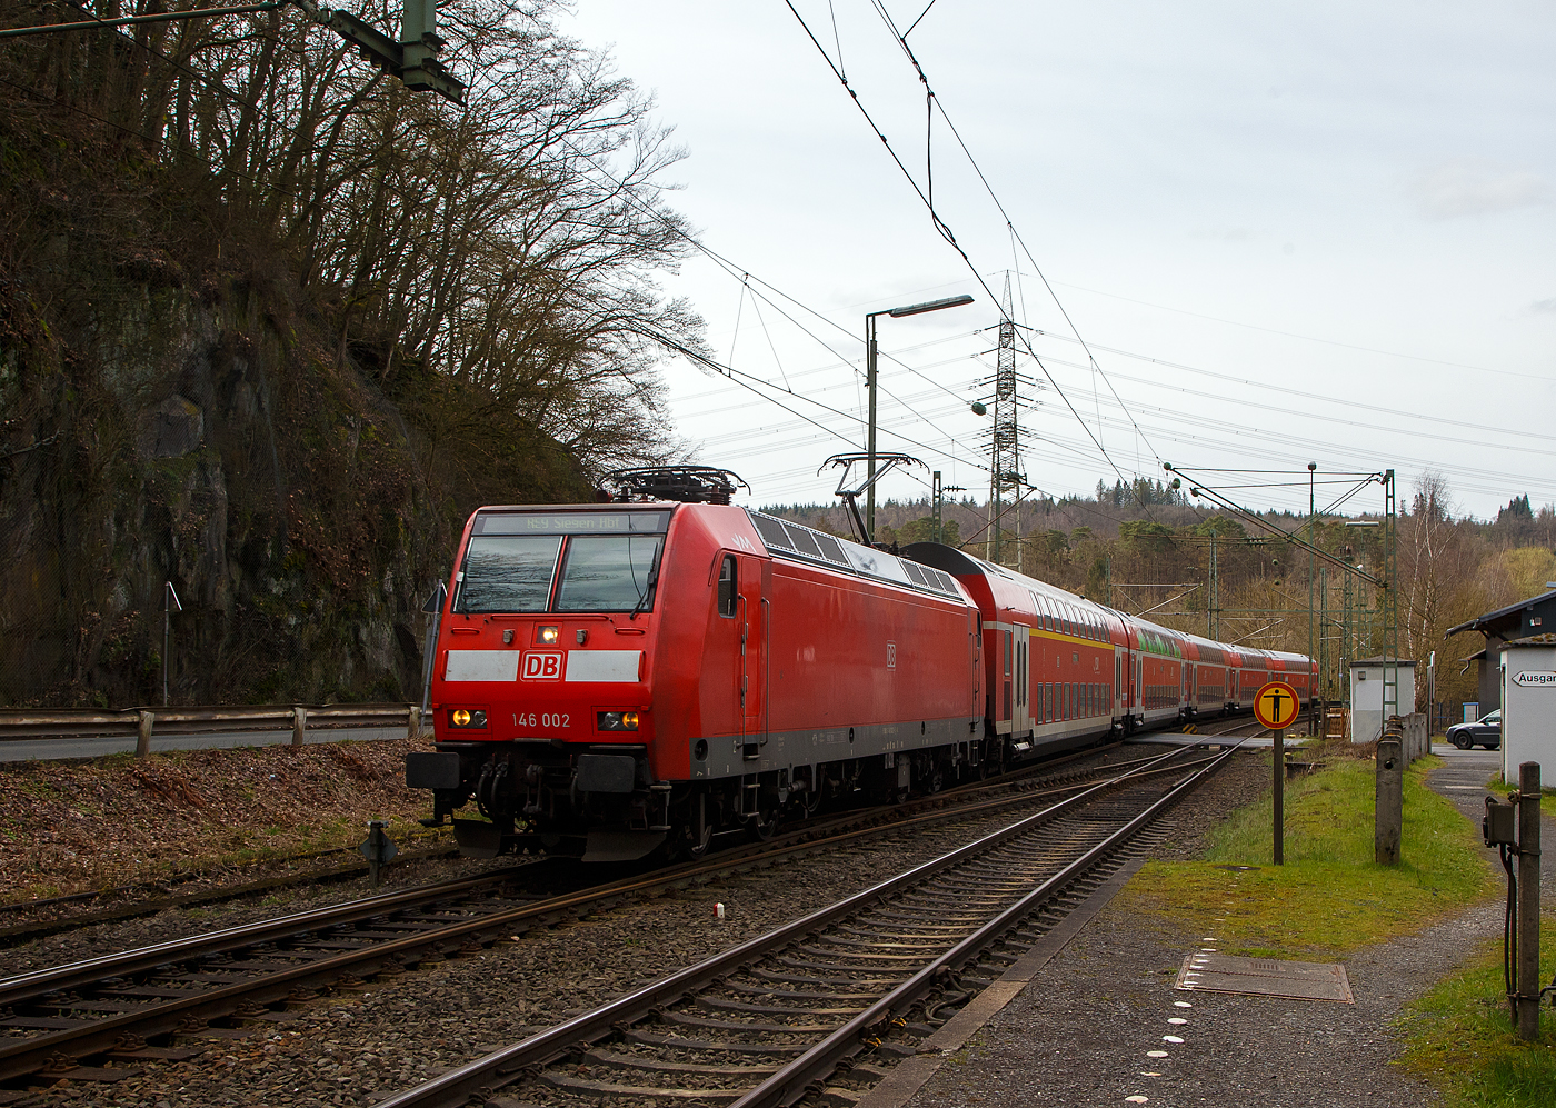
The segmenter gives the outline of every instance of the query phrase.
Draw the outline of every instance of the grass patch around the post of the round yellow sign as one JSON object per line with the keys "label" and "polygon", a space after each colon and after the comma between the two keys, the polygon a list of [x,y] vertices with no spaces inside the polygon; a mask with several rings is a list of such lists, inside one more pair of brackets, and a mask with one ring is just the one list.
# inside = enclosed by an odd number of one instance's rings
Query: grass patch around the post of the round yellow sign
{"label": "grass patch around the post of the round yellow sign", "polygon": [[1405,775],[1399,865],[1372,861],[1372,761],[1332,756],[1287,784],[1284,865],[1271,864],[1267,791],[1217,829],[1201,861],[1147,864],[1122,906],[1251,957],[1333,957],[1419,931],[1500,889],[1477,829],[1425,787],[1438,764],[1425,758]]}

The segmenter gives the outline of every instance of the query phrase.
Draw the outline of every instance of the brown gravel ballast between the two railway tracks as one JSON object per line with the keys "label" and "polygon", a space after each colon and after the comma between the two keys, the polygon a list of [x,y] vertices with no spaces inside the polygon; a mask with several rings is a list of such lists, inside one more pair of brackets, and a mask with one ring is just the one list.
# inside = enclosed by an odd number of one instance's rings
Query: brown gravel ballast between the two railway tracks
{"label": "brown gravel ballast between the two railway tracks", "polygon": [[[260,1021],[247,1038],[210,1041],[194,1060],[135,1063],[145,1072],[112,1086],[62,1082],[48,1089],[44,1103],[59,1108],[372,1105],[937,857],[1018,815],[1013,811],[954,826],[904,829],[828,856],[803,856],[532,931],[479,955],[450,959],[305,1002],[282,1013],[282,1021]],[[716,903],[725,906],[724,920],[716,918]],[[286,909],[300,904],[291,899]],[[204,924],[229,926],[257,907],[261,915],[282,910],[280,904],[212,909]],[[106,929],[112,935],[90,941],[129,940],[137,927],[145,929],[142,934],[165,934],[185,924],[160,918],[134,921]]]}

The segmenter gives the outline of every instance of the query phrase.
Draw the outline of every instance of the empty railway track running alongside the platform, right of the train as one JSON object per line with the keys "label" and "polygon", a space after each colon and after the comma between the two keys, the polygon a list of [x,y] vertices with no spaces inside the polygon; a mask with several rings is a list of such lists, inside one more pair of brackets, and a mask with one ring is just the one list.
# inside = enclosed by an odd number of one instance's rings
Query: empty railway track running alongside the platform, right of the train
{"label": "empty railway track running alongside the platform, right of the train", "polygon": [[1231,750],[1161,755],[873,889],[489,1054],[378,1108],[767,1108],[884,1075],[1139,848]]}

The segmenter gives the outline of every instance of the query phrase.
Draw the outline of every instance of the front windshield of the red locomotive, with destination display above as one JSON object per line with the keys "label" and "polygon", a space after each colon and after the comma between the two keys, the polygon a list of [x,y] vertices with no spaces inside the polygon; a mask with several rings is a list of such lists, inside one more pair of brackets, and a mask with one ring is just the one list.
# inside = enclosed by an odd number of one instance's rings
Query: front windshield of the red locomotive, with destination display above
{"label": "front windshield of the red locomotive, with destination display above", "polygon": [[454,612],[646,610],[668,524],[669,512],[481,514]]}

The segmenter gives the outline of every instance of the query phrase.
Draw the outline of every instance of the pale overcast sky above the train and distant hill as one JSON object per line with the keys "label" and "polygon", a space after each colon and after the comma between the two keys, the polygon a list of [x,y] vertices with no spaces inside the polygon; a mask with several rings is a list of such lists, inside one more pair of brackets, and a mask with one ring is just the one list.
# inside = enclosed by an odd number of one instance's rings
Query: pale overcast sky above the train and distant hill
{"label": "pale overcast sky above the train and distant hill", "polygon": [[[926,2],[885,6],[906,28]],[[800,324],[706,258],[666,282],[775,386],[666,363],[678,433],[748,503],[829,503],[817,467],[864,444],[864,313],[958,293],[977,303],[881,321],[879,445],[983,500],[979,275],[997,296],[1007,274],[1041,331],[1019,370],[1043,492],[1169,461],[1285,472],[1206,481],[1295,482],[1234,495],[1305,510],[1313,461],[1332,493],[1393,467],[1408,498],[1433,467],[1460,514],[1556,501],[1556,6],[937,0],[909,45],[1013,237],[944,118],[926,151],[924,86],[876,9],[795,0],[920,188],[932,160],[969,268],[783,0],[576,3],[562,30],[610,47],[686,149],[672,205]]]}

